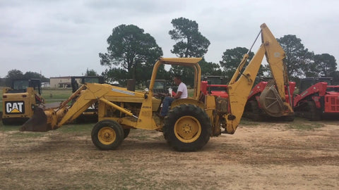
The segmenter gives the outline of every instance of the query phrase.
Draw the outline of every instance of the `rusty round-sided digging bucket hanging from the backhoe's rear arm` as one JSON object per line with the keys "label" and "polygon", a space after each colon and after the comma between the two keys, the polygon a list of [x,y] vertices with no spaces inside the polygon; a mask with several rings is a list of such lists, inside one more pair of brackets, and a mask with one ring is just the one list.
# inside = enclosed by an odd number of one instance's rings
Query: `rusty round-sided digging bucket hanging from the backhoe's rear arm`
{"label": "rusty round-sided digging bucket hanging from the backhoe's rear arm", "polygon": [[274,82],[268,82],[266,88],[261,92],[259,97],[261,108],[270,116],[281,117],[285,113],[285,105],[280,98]]}

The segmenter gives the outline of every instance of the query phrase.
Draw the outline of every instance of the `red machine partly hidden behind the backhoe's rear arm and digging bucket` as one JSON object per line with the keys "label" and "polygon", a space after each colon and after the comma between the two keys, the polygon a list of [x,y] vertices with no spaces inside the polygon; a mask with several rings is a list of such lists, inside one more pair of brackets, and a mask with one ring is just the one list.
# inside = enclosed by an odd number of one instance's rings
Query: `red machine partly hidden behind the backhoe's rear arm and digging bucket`
{"label": "red machine partly hidden behind the backhoe's rear arm and digging bucket", "polygon": [[[268,86],[273,87],[274,85],[269,84],[270,80],[272,80],[272,77],[261,77],[258,79],[260,82],[258,82],[251,90],[249,94],[249,98],[247,99],[246,106],[244,109],[244,117],[249,118],[254,121],[263,121],[263,120],[286,120],[286,121],[293,121],[294,115],[276,115],[275,113],[270,113],[266,111],[267,109],[263,108],[263,100],[261,98],[261,94],[263,94],[263,91],[268,88]],[[292,96],[293,92],[295,91],[295,82],[288,82],[288,87],[285,85],[285,102],[290,103],[292,102]],[[264,93],[266,93],[264,91]],[[289,96],[290,94],[290,96]],[[266,99],[269,99],[269,96],[266,97]],[[278,100],[273,99],[268,104],[266,103],[266,107],[275,106],[275,104],[279,104]],[[281,104],[281,103],[280,103]]]}

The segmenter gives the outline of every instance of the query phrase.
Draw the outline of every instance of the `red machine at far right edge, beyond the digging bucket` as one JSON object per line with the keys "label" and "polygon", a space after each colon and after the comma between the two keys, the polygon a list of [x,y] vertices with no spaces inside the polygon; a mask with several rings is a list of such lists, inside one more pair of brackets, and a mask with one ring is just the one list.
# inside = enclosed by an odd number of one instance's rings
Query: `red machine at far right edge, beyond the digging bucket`
{"label": "red machine at far right edge, beyond the digging bucket", "polygon": [[309,77],[300,80],[299,94],[293,107],[297,116],[311,121],[338,118],[339,85],[331,77]]}

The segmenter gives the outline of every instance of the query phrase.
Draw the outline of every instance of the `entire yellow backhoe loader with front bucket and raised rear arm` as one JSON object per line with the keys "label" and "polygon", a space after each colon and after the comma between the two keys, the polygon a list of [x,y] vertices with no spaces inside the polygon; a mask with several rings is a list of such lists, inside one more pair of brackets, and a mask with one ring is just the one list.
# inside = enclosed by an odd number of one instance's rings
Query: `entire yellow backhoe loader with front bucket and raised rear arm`
{"label": "entire yellow backhoe loader with front bucket and raised rear arm", "polygon": [[[87,83],[58,108],[36,108],[35,115],[20,130],[44,132],[57,129],[98,102],[99,122],[91,134],[97,148],[115,149],[127,137],[130,129],[148,129],[163,132],[167,143],[177,151],[197,151],[207,144],[210,137],[222,132],[234,134],[265,54],[275,81],[263,92],[267,96],[266,99],[263,98],[266,103],[264,108],[280,115],[290,115],[293,110],[284,101],[284,84],[287,82],[283,63],[285,53],[265,24],[261,25],[259,34],[262,44],[243,69],[248,53],[244,55],[228,85],[228,99],[201,94],[201,68],[198,64],[201,58],[160,58],[154,65],[147,92],[129,91],[109,84]],[[163,122],[157,116],[161,99],[153,96],[157,69],[162,64],[188,66],[195,70],[193,96],[174,101]],[[69,101],[75,97],[76,102],[71,107],[68,106]]]}

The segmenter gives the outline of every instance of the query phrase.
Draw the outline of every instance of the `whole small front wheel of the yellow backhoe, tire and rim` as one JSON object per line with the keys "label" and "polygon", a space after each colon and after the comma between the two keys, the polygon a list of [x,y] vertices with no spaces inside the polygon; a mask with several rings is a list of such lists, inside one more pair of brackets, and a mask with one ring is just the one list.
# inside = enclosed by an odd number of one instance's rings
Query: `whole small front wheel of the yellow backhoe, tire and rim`
{"label": "whole small front wheel of the yellow backhoe, tire and rim", "polygon": [[114,120],[102,120],[93,127],[91,137],[100,150],[114,150],[124,140],[124,129]]}

